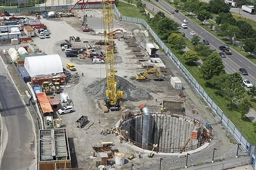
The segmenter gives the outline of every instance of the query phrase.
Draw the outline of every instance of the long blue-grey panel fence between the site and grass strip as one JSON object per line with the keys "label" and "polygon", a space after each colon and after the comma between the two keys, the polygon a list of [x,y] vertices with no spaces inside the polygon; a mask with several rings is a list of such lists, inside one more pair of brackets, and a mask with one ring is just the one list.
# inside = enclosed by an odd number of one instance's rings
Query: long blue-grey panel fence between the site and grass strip
{"label": "long blue-grey panel fence between the site and grass strip", "polygon": [[148,23],[141,18],[135,17],[126,17],[120,14],[119,10],[115,6],[116,14],[119,20],[128,21],[132,23],[140,23],[148,30],[148,32],[154,37],[155,41],[160,45],[161,48],[165,51],[167,56],[174,62],[180,72],[184,77],[189,81],[189,83],[195,88],[195,90],[202,96],[205,102],[212,108],[212,111],[215,115],[220,119],[221,123],[228,129],[230,134],[236,139],[236,142],[241,144],[241,147],[244,150],[248,151],[248,155],[251,156],[250,164],[256,170],[255,166],[255,144],[250,144],[247,139],[242,135],[239,129],[231,122],[230,119],[227,118],[225,113],[221,111],[221,108],[211,99],[211,97],[204,91],[204,88],[196,81],[196,79],[189,73],[189,71],[184,67],[184,65],[175,57],[172,51],[164,44],[164,42],[157,36],[157,34],[153,31],[153,29],[148,25]]}

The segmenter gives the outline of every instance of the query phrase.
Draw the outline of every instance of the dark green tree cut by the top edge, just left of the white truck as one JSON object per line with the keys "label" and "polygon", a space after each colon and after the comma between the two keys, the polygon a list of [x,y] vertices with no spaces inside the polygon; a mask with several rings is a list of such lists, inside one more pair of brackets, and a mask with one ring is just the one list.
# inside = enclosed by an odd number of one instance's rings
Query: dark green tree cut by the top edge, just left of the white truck
{"label": "dark green tree cut by the top edge, just left of the white truck", "polygon": [[210,0],[209,10],[209,12],[213,14],[219,14],[221,12],[228,13],[230,11],[230,6],[225,3],[224,0]]}

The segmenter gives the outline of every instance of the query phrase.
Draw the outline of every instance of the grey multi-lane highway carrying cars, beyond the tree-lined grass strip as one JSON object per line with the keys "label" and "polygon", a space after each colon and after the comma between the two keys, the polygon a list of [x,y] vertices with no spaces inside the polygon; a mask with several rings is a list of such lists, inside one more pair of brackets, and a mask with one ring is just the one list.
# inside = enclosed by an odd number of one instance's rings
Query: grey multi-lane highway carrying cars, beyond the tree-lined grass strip
{"label": "grey multi-lane highway carrying cars, beyond the tree-lined grass strip", "polygon": [[[146,1],[143,1],[143,3],[145,3],[149,8],[153,8],[153,6],[150,3]],[[158,2],[155,2],[155,3],[157,3],[158,6],[161,6],[161,8],[163,8],[165,11],[168,11],[169,14],[166,14],[166,16],[170,17],[172,20],[174,20],[178,24],[181,25],[184,19],[188,20],[189,23],[186,23],[188,26],[188,29],[183,29],[183,28],[180,29],[181,32],[185,33],[186,37],[191,39],[192,36],[189,34],[189,32],[194,31],[196,34],[198,34],[201,37],[201,40],[203,39],[209,40],[210,47],[212,49],[215,49],[217,52],[221,52],[219,50],[219,46],[224,45],[224,42],[222,42],[221,40],[219,40],[218,38],[210,34],[201,26],[198,26],[189,18],[186,18],[186,16],[184,16],[180,12],[175,14],[170,14],[170,11],[174,11],[174,8],[170,6],[168,3],[166,3],[165,1],[159,0]],[[154,6],[154,11],[157,12],[162,10]],[[250,62],[250,60],[243,57],[241,54],[239,54],[235,50],[233,50],[232,47],[230,47],[230,50],[233,52],[233,54],[226,55],[227,57],[223,58],[223,64],[225,65],[225,70],[227,71],[227,73],[232,74],[232,73],[238,72],[239,68],[245,68],[248,71],[249,75],[242,76],[243,79],[249,79],[251,82],[253,82],[253,79],[256,75],[256,65]]]}

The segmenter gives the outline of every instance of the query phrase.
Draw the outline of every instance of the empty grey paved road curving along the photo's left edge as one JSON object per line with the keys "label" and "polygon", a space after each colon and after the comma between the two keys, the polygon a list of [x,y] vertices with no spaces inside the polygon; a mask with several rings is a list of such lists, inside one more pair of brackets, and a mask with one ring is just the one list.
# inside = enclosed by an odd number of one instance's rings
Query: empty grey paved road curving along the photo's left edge
{"label": "empty grey paved road curving along the photo's left edge", "polygon": [[27,170],[35,161],[32,121],[0,61],[1,170]]}

